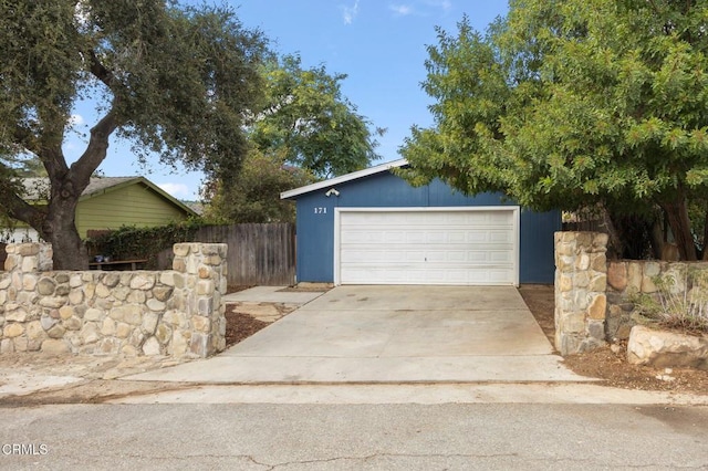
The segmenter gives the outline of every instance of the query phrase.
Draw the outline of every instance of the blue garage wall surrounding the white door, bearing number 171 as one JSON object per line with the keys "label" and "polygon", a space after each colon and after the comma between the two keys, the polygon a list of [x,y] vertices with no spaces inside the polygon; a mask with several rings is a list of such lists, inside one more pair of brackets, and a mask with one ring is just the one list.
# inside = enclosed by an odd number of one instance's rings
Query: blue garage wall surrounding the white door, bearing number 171
{"label": "blue garage wall surrounding the white door, bearing number 171", "polygon": [[[440,180],[414,188],[404,179],[383,171],[335,185],[340,196],[326,197],[330,187],[298,196],[298,282],[334,281],[335,208],[428,208],[459,206],[517,206],[498,193],[467,197]],[[561,229],[560,211],[521,210],[521,283],[552,283],[553,232]]]}

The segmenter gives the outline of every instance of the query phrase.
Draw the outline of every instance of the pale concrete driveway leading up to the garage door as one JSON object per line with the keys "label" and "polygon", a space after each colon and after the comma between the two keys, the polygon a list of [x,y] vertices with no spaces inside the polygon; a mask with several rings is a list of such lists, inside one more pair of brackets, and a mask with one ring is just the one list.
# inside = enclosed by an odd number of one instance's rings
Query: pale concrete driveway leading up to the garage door
{"label": "pale concrete driveway leading up to the garage door", "polygon": [[[279,302],[287,301],[283,295],[278,293]],[[239,294],[243,301],[248,296],[248,291]],[[262,291],[257,301],[267,301]],[[566,369],[552,352],[514,287],[337,286],[214,358],[125,379],[217,384],[587,380]]]}

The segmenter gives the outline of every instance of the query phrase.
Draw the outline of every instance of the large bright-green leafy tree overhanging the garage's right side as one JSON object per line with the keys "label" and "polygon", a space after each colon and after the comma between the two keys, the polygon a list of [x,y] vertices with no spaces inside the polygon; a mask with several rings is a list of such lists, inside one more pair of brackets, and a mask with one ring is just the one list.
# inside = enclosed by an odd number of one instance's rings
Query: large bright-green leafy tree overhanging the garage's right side
{"label": "large bright-green leafy tree overhanging the garage's right side", "polygon": [[465,19],[438,39],[424,83],[436,122],[402,149],[414,181],[540,210],[600,206],[647,221],[660,208],[680,257],[696,259],[708,1],[512,0],[486,34]]}

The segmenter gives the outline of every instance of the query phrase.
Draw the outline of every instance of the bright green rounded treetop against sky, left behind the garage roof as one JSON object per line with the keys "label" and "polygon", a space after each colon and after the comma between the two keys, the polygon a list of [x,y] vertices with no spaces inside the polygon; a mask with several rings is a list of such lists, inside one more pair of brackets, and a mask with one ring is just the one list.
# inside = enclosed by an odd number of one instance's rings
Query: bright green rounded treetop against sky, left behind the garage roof
{"label": "bright green rounded treetop against sky, left behind the garage roof", "polygon": [[250,124],[250,138],[263,154],[285,153],[288,164],[326,178],[361,170],[378,158],[368,121],[342,94],[344,74],[324,65],[303,70],[299,56],[271,61],[263,71],[264,102]]}

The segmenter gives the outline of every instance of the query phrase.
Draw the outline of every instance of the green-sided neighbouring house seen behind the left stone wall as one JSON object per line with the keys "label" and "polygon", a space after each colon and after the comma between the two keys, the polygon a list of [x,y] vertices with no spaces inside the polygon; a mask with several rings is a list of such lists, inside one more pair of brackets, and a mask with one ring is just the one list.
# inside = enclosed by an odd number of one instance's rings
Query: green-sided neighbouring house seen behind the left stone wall
{"label": "green-sided neighbouring house seen behind the left stone wall", "polygon": [[[28,200],[46,200],[49,180],[27,178]],[[144,177],[96,177],[81,195],[76,206],[76,229],[85,239],[92,230],[113,230],[121,226],[154,227],[181,221],[197,213],[187,205]],[[37,232],[20,227],[4,234],[8,241],[38,240]]]}

